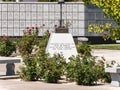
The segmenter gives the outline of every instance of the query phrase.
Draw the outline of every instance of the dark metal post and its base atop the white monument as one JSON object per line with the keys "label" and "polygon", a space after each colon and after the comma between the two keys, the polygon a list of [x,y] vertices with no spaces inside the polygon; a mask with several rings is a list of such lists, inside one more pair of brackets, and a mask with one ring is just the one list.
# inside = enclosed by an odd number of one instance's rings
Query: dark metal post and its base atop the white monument
{"label": "dark metal post and its base atop the white monument", "polygon": [[60,4],[60,26],[55,29],[56,33],[68,33],[68,28],[65,28],[62,20],[62,4],[64,4],[64,0],[58,0],[58,4]]}

